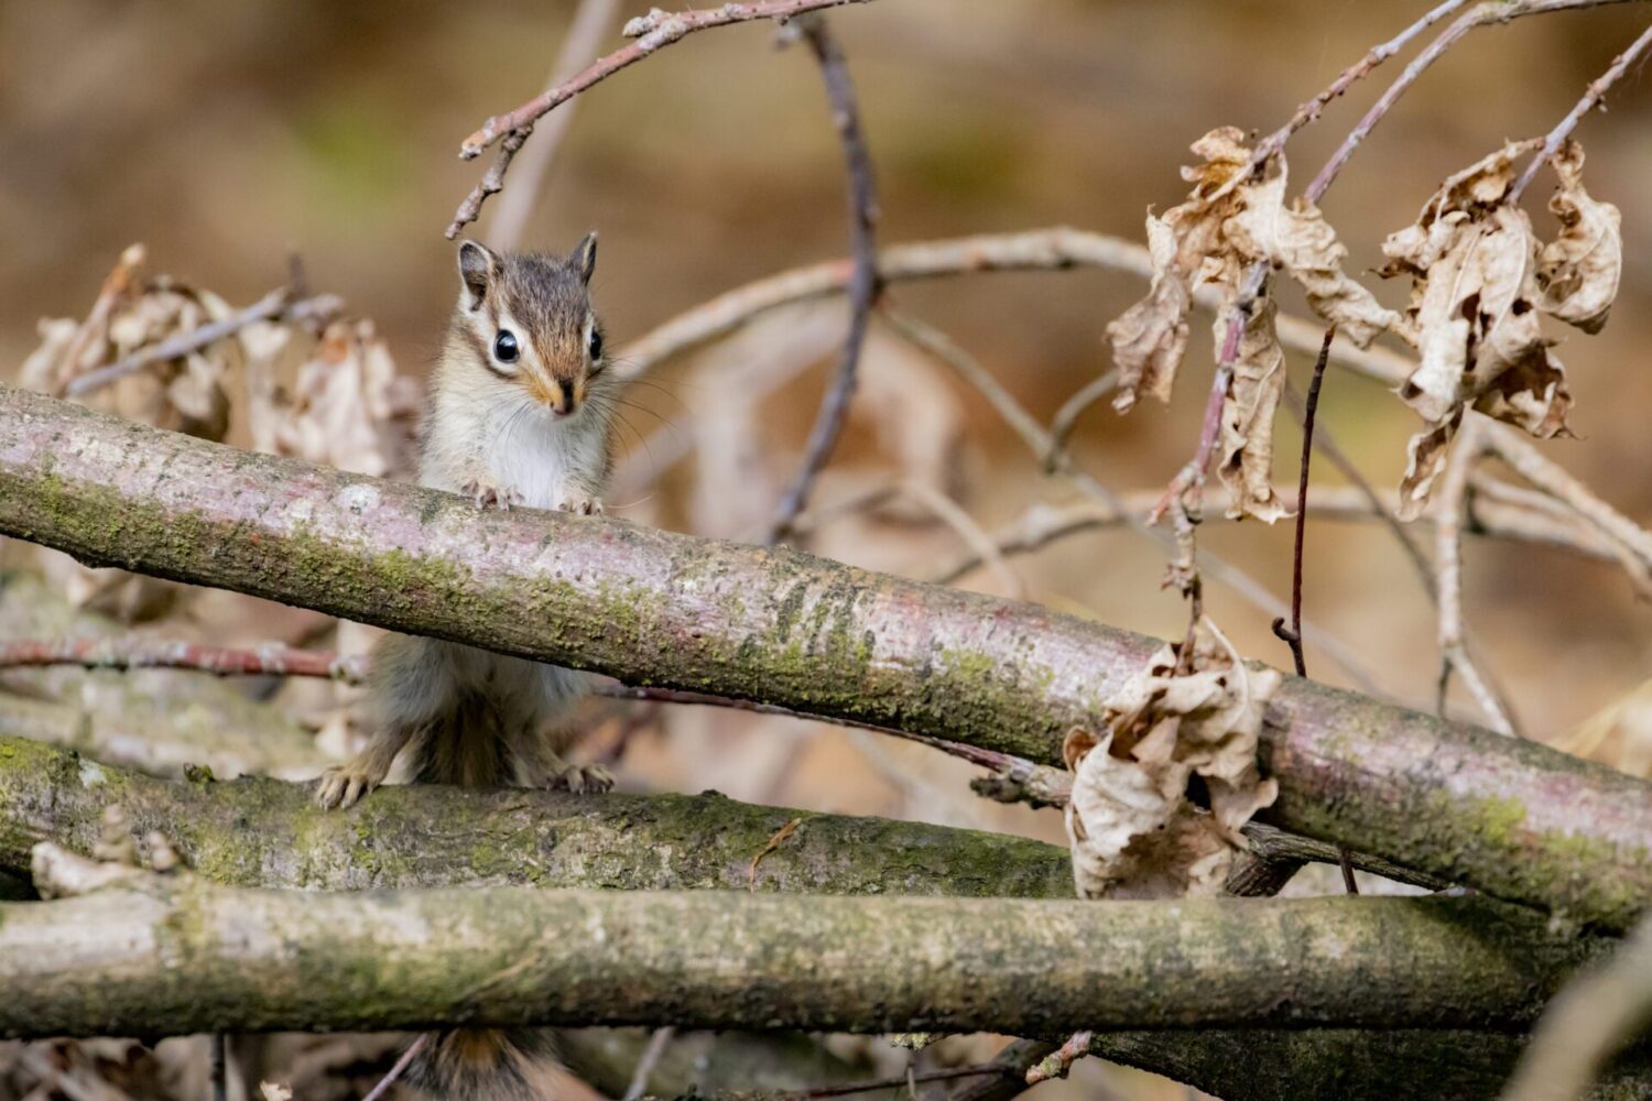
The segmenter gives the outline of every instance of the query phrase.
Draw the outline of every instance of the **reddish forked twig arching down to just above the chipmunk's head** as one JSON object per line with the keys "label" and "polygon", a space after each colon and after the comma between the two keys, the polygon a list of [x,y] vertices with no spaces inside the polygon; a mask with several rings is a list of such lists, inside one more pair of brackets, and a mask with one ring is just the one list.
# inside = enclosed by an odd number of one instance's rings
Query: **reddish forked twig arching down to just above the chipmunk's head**
{"label": "reddish forked twig arching down to just above the chipmunk's head", "polygon": [[593,84],[608,79],[620,69],[636,64],[656,50],[662,50],[671,43],[692,35],[694,31],[702,31],[712,26],[750,23],[752,20],[775,20],[778,23],[785,23],[786,20],[796,18],[806,12],[869,2],[871,0],[768,0],[767,3],[724,3],[717,8],[707,8],[704,12],[661,12],[659,8],[654,8],[648,15],[641,15],[628,21],[624,25],[624,36],[636,40],[629,46],[623,46],[605,58],[598,58],[583,71],[553,87],[547,87],[544,92],[527,101],[515,111],[492,116],[474,134],[464,139],[459,145],[459,157],[463,160],[479,157],[482,150],[501,140],[509,152],[504,149],[501,150],[499,158],[494,162],[492,168],[487,170],[482,183],[479,183],[459,205],[459,210],[453,216],[453,223],[448,226],[448,238],[453,239],[468,223],[476,221],[476,216],[481,213],[482,203],[487,196],[504,188],[506,172],[510,170],[510,158],[522,149],[522,142],[525,142],[534,132],[534,124],[539,119],[558,104],[563,104]]}

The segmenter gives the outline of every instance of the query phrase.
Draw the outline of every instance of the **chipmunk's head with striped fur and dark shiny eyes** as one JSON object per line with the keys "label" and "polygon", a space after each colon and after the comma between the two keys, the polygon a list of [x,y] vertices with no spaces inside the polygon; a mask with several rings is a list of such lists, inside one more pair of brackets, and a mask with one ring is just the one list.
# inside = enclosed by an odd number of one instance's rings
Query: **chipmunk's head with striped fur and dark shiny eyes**
{"label": "chipmunk's head with striped fur and dark shiny eyes", "polygon": [[588,292],[595,267],[595,233],[567,258],[501,254],[464,241],[456,343],[552,414],[578,413],[605,366],[603,332]]}

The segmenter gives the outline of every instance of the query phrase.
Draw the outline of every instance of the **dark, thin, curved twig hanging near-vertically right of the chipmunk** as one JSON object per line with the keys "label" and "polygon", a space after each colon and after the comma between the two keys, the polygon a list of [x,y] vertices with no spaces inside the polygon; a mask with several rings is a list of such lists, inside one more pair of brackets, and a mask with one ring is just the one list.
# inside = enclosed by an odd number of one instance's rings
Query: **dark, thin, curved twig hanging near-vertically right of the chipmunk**
{"label": "dark, thin, curved twig hanging near-vertically right of the chipmunk", "polygon": [[[819,7],[819,5],[816,5]],[[849,79],[849,66],[843,58],[843,50],[826,30],[824,18],[811,18],[803,26],[803,38],[821,68],[821,79],[826,83],[826,97],[831,101],[833,124],[838,127],[838,139],[843,142],[844,162],[849,173],[849,244],[854,256],[854,274],[849,277],[849,335],[843,342],[843,355],[838,360],[838,373],[826,399],[821,401],[809,429],[809,441],[803,449],[803,467],[786,489],[775,513],[775,525],[768,532],[770,543],[778,543],[791,532],[791,522],[798,518],[808,505],[814,479],[826,467],[831,452],[838,447],[843,424],[849,416],[849,399],[854,396],[856,376],[861,366],[861,350],[866,345],[866,328],[872,317],[872,304],[877,300],[882,279],[877,274],[877,239],[874,226],[877,223],[877,185],[872,178],[872,154],[866,145],[861,129],[861,109],[854,96],[854,83]]]}

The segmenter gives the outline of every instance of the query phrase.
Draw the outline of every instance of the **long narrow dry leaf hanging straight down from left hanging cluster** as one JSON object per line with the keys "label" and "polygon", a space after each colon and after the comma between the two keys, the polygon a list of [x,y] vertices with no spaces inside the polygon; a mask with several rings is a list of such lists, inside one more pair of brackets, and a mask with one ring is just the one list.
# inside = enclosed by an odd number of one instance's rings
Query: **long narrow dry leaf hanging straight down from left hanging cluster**
{"label": "long narrow dry leaf hanging straight down from left hanging cluster", "polygon": [[[1216,315],[1216,340],[1227,332],[1231,310]],[[1274,413],[1285,391],[1285,350],[1274,332],[1275,307],[1262,299],[1246,319],[1222,399],[1221,451],[1216,474],[1229,489],[1227,515],[1272,523],[1290,510],[1274,492]]]}

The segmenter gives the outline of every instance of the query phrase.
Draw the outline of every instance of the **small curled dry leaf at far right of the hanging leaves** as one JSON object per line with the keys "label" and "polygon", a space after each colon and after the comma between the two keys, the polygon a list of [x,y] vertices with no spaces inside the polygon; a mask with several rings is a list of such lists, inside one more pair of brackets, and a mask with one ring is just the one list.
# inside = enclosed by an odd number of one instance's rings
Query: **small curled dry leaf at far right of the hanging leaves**
{"label": "small curled dry leaf at far right of the hanging leaves", "polygon": [[1553,160],[1559,188],[1550,210],[1559,218],[1559,236],[1543,246],[1536,281],[1543,289],[1538,307],[1553,317],[1596,333],[1617,299],[1624,272],[1622,215],[1583,190],[1583,145],[1568,140]]}

